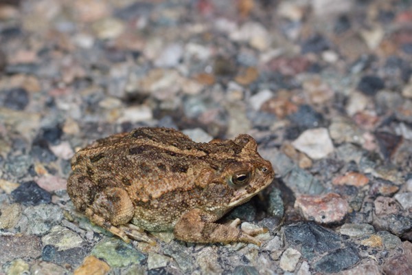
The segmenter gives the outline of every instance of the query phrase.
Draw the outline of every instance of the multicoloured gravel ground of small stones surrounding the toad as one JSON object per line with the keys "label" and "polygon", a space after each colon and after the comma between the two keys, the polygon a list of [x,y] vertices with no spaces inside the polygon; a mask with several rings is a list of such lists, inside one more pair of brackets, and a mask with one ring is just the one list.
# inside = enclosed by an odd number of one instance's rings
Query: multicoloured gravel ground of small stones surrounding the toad
{"label": "multicoloured gravel ground of small stones surrounding the toad", "polygon": [[[412,274],[412,3],[0,0],[0,274]],[[249,133],[262,246],[126,244],[73,153],[139,126]]]}

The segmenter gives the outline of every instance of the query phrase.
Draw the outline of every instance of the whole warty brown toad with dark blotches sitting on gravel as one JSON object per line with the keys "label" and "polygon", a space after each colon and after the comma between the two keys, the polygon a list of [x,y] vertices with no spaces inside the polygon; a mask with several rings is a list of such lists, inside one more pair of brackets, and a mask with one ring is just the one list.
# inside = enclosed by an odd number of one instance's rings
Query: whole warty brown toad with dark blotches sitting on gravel
{"label": "whole warty brown toad with dark blotches sitting on gravel", "polygon": [[71,166],[67,192],[76,208],[124,241],[150,241],[140,228],[196,243],[260,245],[253,235],[262,230],[214,223],[273,180],[249,135],[196,143],[174,129],[140,128],[96,141]]}

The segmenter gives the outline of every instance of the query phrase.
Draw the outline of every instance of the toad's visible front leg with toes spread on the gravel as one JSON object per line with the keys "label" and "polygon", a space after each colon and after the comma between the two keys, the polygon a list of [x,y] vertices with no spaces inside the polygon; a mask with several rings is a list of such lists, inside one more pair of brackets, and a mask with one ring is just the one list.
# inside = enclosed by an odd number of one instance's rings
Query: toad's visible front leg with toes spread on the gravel
{"label": "toad's visible front leg with toes spread on the gravel", "polygon": [[251,236],[251,234],[267,231],[262,229],[254,230],[250,233],[244,232],[231,225],[211,222],[214,220],[216,219],[211,214],[202,212],[200,209],[190,210],[174,226],[174,236],[181,241],[191,243],[230,243],[232,241],[241,241],[260,246],[260,241]]}

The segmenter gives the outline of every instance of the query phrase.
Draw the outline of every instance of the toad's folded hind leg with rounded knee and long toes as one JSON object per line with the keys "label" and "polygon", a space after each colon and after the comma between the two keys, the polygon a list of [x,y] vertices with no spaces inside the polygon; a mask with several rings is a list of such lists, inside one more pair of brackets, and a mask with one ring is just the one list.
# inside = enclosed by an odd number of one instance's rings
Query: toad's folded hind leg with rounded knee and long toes
{"label": "toad's folded hind leg with rounded knee and long toes", "polygon": [[130,241],[128,236],[137,241],[153,243],[144,232],[130,223],[134,209],[126,190],[108,187],[96,195],[84,212],[93,223],[119,236],[126,243]]}

